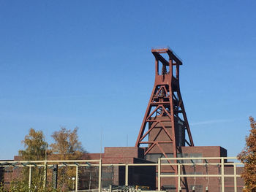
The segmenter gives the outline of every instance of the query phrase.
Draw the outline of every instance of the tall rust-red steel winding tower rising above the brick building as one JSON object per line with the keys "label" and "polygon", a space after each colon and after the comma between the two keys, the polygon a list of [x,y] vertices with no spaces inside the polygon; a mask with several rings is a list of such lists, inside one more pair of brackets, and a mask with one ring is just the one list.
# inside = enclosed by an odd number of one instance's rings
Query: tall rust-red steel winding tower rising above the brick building
{"label": "tall rust-red steel winding tower rising above the brick building", "polygon": [[[181,60],[169,48],[152,49],[155,57],[155,82],[136,147],[145,147],[146,159],[174,157],[181,146],[194,146],[179,87]],[[162,170],[164,171],[164,170]],[[172,166],[167,172],[175,172]]]}

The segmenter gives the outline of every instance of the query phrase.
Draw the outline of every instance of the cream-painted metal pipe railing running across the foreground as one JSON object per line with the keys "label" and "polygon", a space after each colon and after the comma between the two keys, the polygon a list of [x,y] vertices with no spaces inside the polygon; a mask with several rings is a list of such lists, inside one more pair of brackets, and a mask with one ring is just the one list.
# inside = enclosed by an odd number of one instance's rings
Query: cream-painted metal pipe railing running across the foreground
{"label": "cream-painted metal pipe railing running across the foreground", "polygon": [[[225,192],[225,177],[233,177],[234,192],[237,192],[237,178],[241,177],[237,174],[237,167],[243,166],[240,162],[227,162],[227,160],[237,161],[236,157],[202,157],[202,158],[158,158],[157,164],[102,164],[102,160],[47,160],[47,161],[0,161],[0,167],[29,167],[29,188],[31,187],[31,168],[32,167],[52,167],[54,164],[59,166],[75,166],[75,191],[78,191],[78,169],[82,166],[98,166],[98,191],[102,191],[102,167],[103,166],[124,166],[125,167],[125,185],[128,186],[128,174],[129,166],[156,166],[157,169],[157,190],[161,191],[161,179],[164,177],[177,177],[178,178],[178,190],[181,189],[182,177],[220,177],[221,178],[221,191]],[[165,162],[163,162],[165,161]],[[189,162],[190,161],[190,162]],[[201,161],[198,163],[198,161]],[[176,162],[176,163],[175,163]],[[181,172],[181,166],[219,166],[219,174],[184,174]],[[177,166],[177,174],[162,174],[162,166]],[[225,166],[233,166],[233,174],[225,174]],[[47,180],[45,174],[44,180]]]}

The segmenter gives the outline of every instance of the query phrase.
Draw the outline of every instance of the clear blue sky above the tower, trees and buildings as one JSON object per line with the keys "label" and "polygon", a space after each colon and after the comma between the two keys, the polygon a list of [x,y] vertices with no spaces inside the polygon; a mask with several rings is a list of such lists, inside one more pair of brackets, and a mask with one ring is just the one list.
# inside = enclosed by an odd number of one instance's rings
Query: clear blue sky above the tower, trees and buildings
{"label": "clear blue sky above the tower, trees and buildings", "polygon": [[154,84],[151,47],[183,60],[195,145],[237,155],[256,118],[256,1],[0,0],[0,159],[29,128],[79,127],[91,153],[135,145]]}

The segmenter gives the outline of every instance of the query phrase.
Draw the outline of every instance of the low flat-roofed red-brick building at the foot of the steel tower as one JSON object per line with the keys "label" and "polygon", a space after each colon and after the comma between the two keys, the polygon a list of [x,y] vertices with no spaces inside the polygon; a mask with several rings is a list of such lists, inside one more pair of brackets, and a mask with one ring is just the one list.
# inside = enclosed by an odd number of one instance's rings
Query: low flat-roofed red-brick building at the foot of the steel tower
{"label": "low flat-roofed red-brick building at the foot of the steel tower", "polygon": [[[144,148],[140,147],[105,147],[105,153],[102,153],[103,164],[138,164],[138,163],[157,163],[158,158],[164,157],[161,153],[154,153],[154,155],[144,155]],[[184,166],[182,174],[220,174],[220,160],[209,160],[208,163],[217,163],[219,166],[198,166],[197,164],[206,163],[203,161],[203,157],[227,157],[227,150],[219,146],[197,146],[197,147],[181,147],[178,153],[178,157],[184,158],[202,158],[200,160],[193,161],[195,166]],[[89,157],[99,158],[97,155],[91,154]],[[168,157],[172,158],[173,154],[167,153]],[[227,161],[226,161],[227,162]],[[186,162],[183,162],[186,163]],[[187,163],[191,163],[188,161]],[[172,174],[170,166],[162,166],[161,174]],[[237,174],[241,173],[242,167],[237,168]],[[225,166],[225,174],[233,174],[233,166]],[[116,180],[113,184],[124,185],[124,166],[121,169],[115,169],[114,172]],[[157,188],[157,169],[146,166],[143,169],[132,170],[129,169],[129,185],[146,185],[150,188]],[[155,183],[155,185],[151,185]],[[242,191],[244,186],[243,180],[237,178],[237,191]],[[176,191],[175,178],[162,178],[161,187],[166,191]],[[208,191],[220,192],[221,180],[220,177],[187,177],[181,179],[182,191],[192,191],[195,187],[195,191],[203,192]],[[234,191],[234,179],[233,177],[225,178],[225,191]]]}

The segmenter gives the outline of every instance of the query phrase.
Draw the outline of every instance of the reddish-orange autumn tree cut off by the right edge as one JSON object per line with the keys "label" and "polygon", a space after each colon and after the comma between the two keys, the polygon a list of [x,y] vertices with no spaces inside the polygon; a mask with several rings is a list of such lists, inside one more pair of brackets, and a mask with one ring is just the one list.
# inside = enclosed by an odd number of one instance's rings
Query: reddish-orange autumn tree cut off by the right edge
{"label": "reddish-orange autumn tree cut off by the right edge", "polygon": [[241,177],[244,179],[246,192],[256,189],[256,121],[249,117],[250,134],[246,137],[246,147],[238,154],[238,159],[244,164]]}

